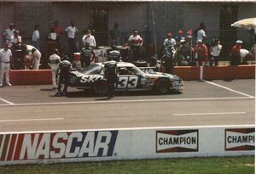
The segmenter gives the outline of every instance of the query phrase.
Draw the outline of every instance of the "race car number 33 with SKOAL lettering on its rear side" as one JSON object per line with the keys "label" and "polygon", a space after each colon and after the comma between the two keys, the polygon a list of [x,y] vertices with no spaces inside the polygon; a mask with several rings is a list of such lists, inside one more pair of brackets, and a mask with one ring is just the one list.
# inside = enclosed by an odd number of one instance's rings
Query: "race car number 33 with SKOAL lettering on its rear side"
{"label": "race car number 33 with SKOAL lettering on its rear side", "polygon": [[[106,93],[104,63],[91,64],[81,70],[69,73],[68,87]],[[183,92],[183,80],[178,76],[156,72],[153,68],[140,67],[127,62],[117,62],[117,82],[115,91],[145,91],[156,93]]]}

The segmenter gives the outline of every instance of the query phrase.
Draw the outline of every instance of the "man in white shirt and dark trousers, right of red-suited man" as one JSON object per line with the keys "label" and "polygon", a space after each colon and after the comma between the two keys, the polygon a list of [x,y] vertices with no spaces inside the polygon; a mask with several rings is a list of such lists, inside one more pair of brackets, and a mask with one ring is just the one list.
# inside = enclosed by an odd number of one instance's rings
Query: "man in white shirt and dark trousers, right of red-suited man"
{"label": "man in white shirt and dark trousers, right of red-suited man", "polygon": [[218,59],[219,59],[219,53],[222,49],[222,45],[218,41],[218,39],[213,39],[210,47],[210,53],[211,53],[211,58],[210,58],[210,66],[214,65],[218,66]]}

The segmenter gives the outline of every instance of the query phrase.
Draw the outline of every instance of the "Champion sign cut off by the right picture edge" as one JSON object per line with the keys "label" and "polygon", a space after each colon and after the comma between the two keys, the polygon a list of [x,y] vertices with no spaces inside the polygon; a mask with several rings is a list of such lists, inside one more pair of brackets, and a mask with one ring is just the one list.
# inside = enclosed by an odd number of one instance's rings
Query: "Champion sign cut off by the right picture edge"
{"label": "Champion sign cut off by the right picture edge", "polygon": [[254,128],[225,129],[225,151],[254,149]]}

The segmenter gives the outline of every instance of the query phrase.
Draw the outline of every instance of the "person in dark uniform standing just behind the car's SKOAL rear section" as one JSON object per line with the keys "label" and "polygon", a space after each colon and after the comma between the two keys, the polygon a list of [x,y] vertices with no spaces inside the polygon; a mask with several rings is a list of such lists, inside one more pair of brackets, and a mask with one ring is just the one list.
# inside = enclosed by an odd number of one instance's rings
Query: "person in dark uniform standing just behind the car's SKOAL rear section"
{"label": "person in dark uniform standing just behind the car's SKOAL rear section", "polygon": [[90,48],[90,43],[85,42],[84,48],[81,50],[81,67],[85,68],[90,65],[94,57],[93,49]]}

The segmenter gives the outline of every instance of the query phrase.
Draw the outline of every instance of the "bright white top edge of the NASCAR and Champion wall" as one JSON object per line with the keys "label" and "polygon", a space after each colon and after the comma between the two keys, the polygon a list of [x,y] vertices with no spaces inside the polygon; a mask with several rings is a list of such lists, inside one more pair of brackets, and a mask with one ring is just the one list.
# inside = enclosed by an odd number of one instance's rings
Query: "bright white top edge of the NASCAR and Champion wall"
{"label": "bright white top edge of the NASCAR and Champion wall", "polygon": [[51,133],[51,132],[95,132],[95,131],[126,131],[126,130],[154,130],[154,129],[199,129],[199,128],[214,128],[214,127],[226,127],[226,128],[244,128],[244,127],[255,127],[255,125],[216,125],[216,126],[148,126],[148,127],[113,127],[113,128],[100,128],[100,129],[72,129],[72,130],[48,130],[48,131],[26,131],[26,132],[0,132],[0,135],[5,134],[23,134],[23,133]]}

